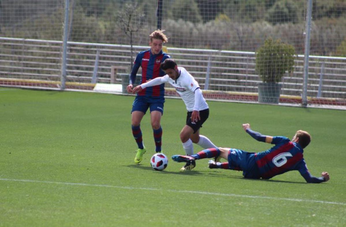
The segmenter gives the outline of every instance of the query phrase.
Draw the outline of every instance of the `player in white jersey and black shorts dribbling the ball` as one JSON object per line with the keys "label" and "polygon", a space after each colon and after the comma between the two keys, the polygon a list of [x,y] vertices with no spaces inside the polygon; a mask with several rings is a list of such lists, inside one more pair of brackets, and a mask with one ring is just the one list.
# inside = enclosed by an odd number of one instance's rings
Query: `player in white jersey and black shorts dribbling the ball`
{"label": "player in white jersey and black shorts dribbling the ball", "polygon": [[[188,110],[186,125],[180,132],[186,155],[193,155],[193,143],[205,149],[217,148],[209,138],[199,134],[199,129],[209,117],[209,107],[198,82],[183,67],[178,67],[172,58],[166,59],[160,67],[167,75],[138,85],[133,89],[133,93],[140,92],[147,87],[170,83],[181,96]],[[190,167],[190,165],[185,165],[181,170],[190,170]]]}

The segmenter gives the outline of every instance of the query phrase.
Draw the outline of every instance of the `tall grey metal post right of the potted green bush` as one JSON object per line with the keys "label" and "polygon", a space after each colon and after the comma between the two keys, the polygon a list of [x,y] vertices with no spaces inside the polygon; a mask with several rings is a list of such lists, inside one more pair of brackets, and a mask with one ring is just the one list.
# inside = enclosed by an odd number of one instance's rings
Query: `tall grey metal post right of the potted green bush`
{"label": "tall grey metal post right of the potted green bush", "polygon": [[303,107],[308,106],[308,77],[309,77],[311,14],[312,14],[312,0],[308,0],[308,8],[306,12],[306,28],[305,28],[304,80],[303,80],[303,97],[302,97]]}

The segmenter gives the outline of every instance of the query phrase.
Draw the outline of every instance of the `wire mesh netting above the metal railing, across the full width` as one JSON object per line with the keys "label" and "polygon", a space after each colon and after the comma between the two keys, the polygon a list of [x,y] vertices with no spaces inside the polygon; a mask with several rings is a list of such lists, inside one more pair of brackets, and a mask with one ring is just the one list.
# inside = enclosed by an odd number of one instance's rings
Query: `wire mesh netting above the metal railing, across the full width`
{"label": "wire mesh netting above the metal railing, across the full width", "polygon": [[[162,25],[180,48],[256,51],[268,37],[304,53],[306,0],[163,0]],[[70,0],[69,41],[147,45],[157,0]],[[65,0],[2,0],[1,36],[62,39]],[[343,55],[346,2],[313,1],[311,55]],[[130,17],[130,18],[129,18]],[[128,30],[128,31],[124,31]]]}

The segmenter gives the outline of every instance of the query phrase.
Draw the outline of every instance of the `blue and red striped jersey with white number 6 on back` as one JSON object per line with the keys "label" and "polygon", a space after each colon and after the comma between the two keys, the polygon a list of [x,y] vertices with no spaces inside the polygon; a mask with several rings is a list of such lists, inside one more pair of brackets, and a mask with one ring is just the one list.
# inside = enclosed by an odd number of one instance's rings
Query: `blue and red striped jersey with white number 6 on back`
{"label": "blue and red striped jersey with white number 6 on back", "polygon": [[303,158],[303,149],[298,143],[291,142],[284,136],[266,137],[267,143],[275,144],[274,147],[255,156],[258,169],[263,179],[291,170],[298,170],[301,174],[308,172]]}

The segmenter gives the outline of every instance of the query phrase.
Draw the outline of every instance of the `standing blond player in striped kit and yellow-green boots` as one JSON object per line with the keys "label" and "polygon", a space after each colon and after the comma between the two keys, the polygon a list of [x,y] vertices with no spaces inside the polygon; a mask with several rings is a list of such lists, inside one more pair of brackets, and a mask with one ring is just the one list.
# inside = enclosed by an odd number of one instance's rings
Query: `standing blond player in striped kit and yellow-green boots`
{"label": "standing blond player in striped kit and yellow-green boots", "polygon": [[[150,34],[149,46],[147,51],[139,52],[136,56],[133,69],[130,75],[130,84],[127,86],[127,92],[132,93],[133,84],[136,80],[136,74],[139,67],[142,67],[142,79],[140,83],[145,83],[148,80],[165,75],[160,69],[160,64],[170,56],[162,51],[163,43],[168,42],[164,30],[155,30]],[[144,89],[137,93],[137,96],[132,105],[131,111],[131,127],[132,134],[136,140],[138,150],[135,157],[135,163],[140,163],[143,160],[143,154],[146,148],[143,144],[142,130],[140,129],[140,122],[146,114],[148,108],[150,109],[151,125],[153,128],[155,151],[161,151],[162,145],[162,127],[161,117],[163,114],[164,98],[164,84],[152,88]]]}

